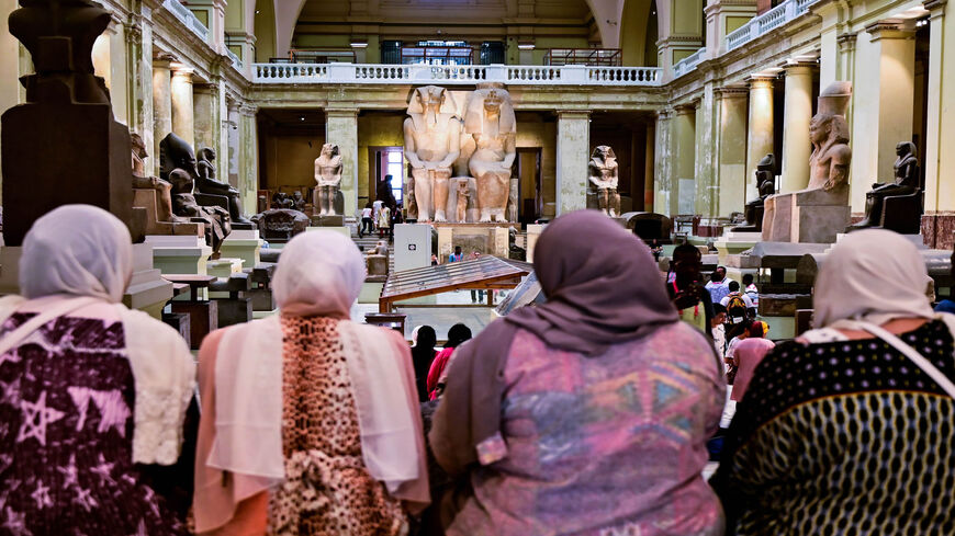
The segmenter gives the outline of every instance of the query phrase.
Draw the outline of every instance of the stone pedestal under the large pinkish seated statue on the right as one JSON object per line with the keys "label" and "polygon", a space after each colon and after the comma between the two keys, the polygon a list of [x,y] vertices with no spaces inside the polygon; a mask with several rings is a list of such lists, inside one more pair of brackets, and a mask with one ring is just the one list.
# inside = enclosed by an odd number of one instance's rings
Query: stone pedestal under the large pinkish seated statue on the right
{"label": "stone pedestal under the large pinkish seated statue on the right", "polygon": [[849,186],[804,190],[766,198],[763,241],[832,243],[850,223]]}

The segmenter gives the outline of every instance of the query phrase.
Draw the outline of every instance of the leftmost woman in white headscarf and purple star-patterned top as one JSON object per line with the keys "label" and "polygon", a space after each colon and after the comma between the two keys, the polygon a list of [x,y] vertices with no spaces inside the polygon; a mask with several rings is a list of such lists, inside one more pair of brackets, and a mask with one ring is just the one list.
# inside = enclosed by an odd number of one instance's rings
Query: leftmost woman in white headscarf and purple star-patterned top
{"label": "leftmost woman in white headscarf and purple star-patterned top", "polygon": [[19,270],[22,296],[0,299],[0,527],[187,534],[189,501],[164,497],[175,471],[156,466],[179,460],[195,365],[176,330],[121,304],[126,227],[61,206],[33,224]]}

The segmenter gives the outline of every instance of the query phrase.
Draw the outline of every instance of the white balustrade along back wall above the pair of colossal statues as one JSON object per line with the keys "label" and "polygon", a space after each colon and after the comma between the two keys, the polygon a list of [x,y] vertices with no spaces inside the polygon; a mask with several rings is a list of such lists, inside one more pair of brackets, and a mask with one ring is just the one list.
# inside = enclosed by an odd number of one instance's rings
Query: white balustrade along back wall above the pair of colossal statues
{"label": "white balustrade along back wall above the pair of colossal statues", "polygon": [[256,83],[380,83],[508,85],[660,85],[656,67],[518,65],[254,64]]}

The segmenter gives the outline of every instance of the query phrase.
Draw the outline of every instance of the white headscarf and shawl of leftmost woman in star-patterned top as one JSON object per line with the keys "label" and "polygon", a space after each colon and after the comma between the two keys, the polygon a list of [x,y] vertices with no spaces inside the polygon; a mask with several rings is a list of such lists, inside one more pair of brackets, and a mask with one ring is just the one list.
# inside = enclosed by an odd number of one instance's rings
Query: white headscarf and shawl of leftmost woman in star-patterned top
{"label": "white headscarf and shawl of leftmost woman in star-patterned top", "polygon": [[195,363],[176,330],[120,303],[132,275],[130,232],[115,216],[90,205],[64,205],[44,215],[23,240],[23,296],[0,299],[0,323],[18,310],[41,308],[0,338],[0,355],[53,319],[87,315],[79,311],[112,304],[115,316],[109,316],[123,322],[136,391],[133,461],[172,465],[179,458],[186,410],[195,388]]}

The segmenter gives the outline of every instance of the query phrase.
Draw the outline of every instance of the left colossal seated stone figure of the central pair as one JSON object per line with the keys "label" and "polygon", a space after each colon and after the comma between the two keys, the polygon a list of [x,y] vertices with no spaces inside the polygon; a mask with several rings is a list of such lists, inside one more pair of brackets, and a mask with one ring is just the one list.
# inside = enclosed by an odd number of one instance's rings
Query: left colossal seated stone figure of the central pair
{"label": "left colossal seated stone figure of the central pair", "polygon": [[425,85],[412,94],[404,123],[405,158],[412,164],[418,221],[446,221],[448,179],[461,151],[461,122],[445,88]]}

